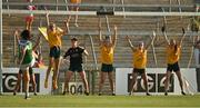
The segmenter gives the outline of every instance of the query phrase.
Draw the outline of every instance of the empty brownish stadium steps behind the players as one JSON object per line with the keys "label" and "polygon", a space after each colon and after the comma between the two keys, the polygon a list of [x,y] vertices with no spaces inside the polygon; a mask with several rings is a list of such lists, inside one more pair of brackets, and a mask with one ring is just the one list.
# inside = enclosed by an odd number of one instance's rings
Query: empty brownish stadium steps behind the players
{"label": "empty brownish stadium steps behind the players", "polygon": [[[36,2],[54,2],[54,0],[34,0]],[[83,2],[88,3],[111,3],[112,0],[83,0]],[[176,0],[174,0],[176,1]],[[172,2],[173,4],[176,2]],[[24,2],[24,0],[12,0],[11,2]],[[59,2],[63,2],[63,0],[59,0]],[[119,3],[119,0],[117,0],[117,3]],[[124,3],[133,3],[133,4],[168,4],[169,0],[124,0]],[[192,0],[184,0],[184,4],[192,4]],[[73,18],[73,17],[72,17]],[[63,27],[62,21],[66,19],[66,16],[51,16],[50,14],[50,20],[56,22],[59,27]],[[41,22],[42,20],[42,22]],[[181,28],[188,27],[189,20],[190,19],[182,19],[180,21],[180,17],[167,17],[168,20],[168,31],[173,31],[173,32],[181,32]],[[106,24],[106,19],[101,18],[102,21],[102,31],[107,31],[107,24]],[[110,17],[109,16],[109,21],[111,28],[113,24],[117,24],[119,30],[118,31],[152,31],[157,30],[157,22],[159,22],[159,28],[163,23],[162,18],[157,18],[157,17],[127,17],[123,19],[123,17]],[[41,22],[42,26],[46,26],[46,19],[44,16],[36,16],[34,22],[33,22],[33,31],[37,33],[37,28],[40,26],[39,23]],[[84,31],[84,30],[90,30],[90,31],[98,31],[98,17],[79,17],[78,23],[79,28],[76,28],[73,26],[74,20],[72,19],[70,22],[70,30],[71,31]],[[3,66],[4,67],[14,67],[13,65],[13,31],[16,29],[22,30],[24,28],[24,16],[8,16],[3,14]],[[87,38],[84,40],[83,37],[79,36],[78,37],[80,40],[80,43],[83,45],[86,43],[87,50],[89,51],[90,56],[88,57],[88,69],[93,67],[93,58],[92,58],[92,51],[91,51],[91,46],[90,46],[90,40]],[[96,55],[98,59],[98,67],[100,69],[100,50],[99,50],[99,38],[98,36],[93,36],[93,41],[94,41],[94,49],[96,49]],[[171,38],[171,37],[169,37]],[[176,38],[176,37],[173,37]],[[180,37],[179,37],[180,38]],[[178,39],[179,39],[178,38]],[[131,37],[132,43],[137,46],[137,41],[146,41],[149,39],[149,37]],[[159,37],[159,40],[154,43],[156,47],[156,53],[157,53],[157,59],[158,59],[158,66],[154,65],[153,60],[153,53],[152,53],[152,48],[149,49],[148,51],[148,66],[149,68],[166,68],[166,46],[163,41],[163,37]],[[191,39],[187,37],[183,41],[183,48],[182,48],[182,55],[180,59],[180,66],[181,67],[187,67],[190,52],[191,52]],[[70,37],[64,37],[63,38],[63,51],[66,51],[70,47]],[[17,50],[17,49],[16,49]],[[49,53],[49,47],[48,43],[46,42],[44,39],[42,39],[42,57],[48,65],[48,53]],[[118,42],[117,42],[117,48],[114,50],[114,67],[132,67],[132,51],[128,47],[128,43],[124,39],[124,36],[119,36]],[[63,52],[62,52],[63,53]],[[66,67],[66,66],[63,66]],[[192,59],[191,67],[194,67],[194,59]],[[61,72],[63,73],[66,70],[62,70]],[[114,78],[114,77],[113,77]],[[61,81],[63,81],[63,77],[61,76]],[[73,80],[73,78],[71,79]],[[78,77],[78,81],[79,81]],[[99,76],[97,78],[97,84],[99,82]],[[98,91],[98,85],[96,85],[96,91]],[[108,79],[106,81],[104,92],[110,91],[109,82]]]}

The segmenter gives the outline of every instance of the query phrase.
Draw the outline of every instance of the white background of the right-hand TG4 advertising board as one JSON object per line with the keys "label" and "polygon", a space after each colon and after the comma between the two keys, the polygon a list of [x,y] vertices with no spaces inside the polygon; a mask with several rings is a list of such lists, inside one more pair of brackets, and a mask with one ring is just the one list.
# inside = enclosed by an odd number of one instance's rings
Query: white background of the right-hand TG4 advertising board
{"label": "white background of the right-hand TG4 advertising board", "polygon": [[[147,68],[147,73],[156,73],[156,77],[158,73],[166,73],[166,68]],[[117,95],[128,95],[128,73],[132,72],[132,68],[117,68],[116,69],[116,94]],[[194,68],[181,68],[181,73],[183,76],[183,79],[187,79],[190,84],[190,89],[194,92],[197,92],[197,79],[196,79],[196,69]],[[158,79],[156,78],[156,84],[151,84],[156,86],[156,92],[152,94],[159,94],[158,92]],[[173,94],[180,94],[180,87],[177,77],[174,76],[174,92]]]}

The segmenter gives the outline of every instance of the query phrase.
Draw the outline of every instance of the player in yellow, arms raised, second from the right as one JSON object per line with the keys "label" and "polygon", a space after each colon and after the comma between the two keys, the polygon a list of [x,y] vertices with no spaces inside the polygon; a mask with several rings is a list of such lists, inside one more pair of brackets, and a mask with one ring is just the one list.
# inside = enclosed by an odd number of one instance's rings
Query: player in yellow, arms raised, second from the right
{"label": "player in yellow, arms raised, second from the right", "polygon": [[127,36],[127,40],[129,41],[129,46],[133,51],[133,71],[132,71],[132,81],[131,81],[131,87],[130,87],[130,95],[132,95],[133,87],[137,82],[137,77],[138,77],[138,75],[140,75],[141,78],[143,79],[143,85],[146,87],[146,95],[150,96],[149,88],[148,88],[148,77],[147,77],[147,72],[146,72],[147,50],[151,46],[151,43],[153,42],[154,38],[156,38],[156,33],[153,31],[153,38],[147,46],[144,46],[143,42],[139,42],[138,47],[134,47],[131,43],[129,36]]}

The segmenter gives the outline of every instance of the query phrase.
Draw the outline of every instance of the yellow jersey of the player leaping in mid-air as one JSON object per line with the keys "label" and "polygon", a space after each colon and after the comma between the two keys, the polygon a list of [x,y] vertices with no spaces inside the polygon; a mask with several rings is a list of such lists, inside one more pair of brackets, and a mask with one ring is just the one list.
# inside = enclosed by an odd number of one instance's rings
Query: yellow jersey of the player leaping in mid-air
{"label": "yellow jersey of the player leaping in mid-air", "polygon": [[49,31],[48,32],[48,39],[49,39],[49,46],[50,48],[54,47],[54,46],[59,46],[61,47],[61,32],[59,30],[57,31]]}

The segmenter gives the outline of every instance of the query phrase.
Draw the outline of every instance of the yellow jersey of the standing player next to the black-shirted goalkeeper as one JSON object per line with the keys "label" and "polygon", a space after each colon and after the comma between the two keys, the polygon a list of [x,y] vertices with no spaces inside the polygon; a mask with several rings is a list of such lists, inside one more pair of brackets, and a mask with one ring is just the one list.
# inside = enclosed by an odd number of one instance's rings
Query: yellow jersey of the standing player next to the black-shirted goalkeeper
{"label": "yellow jersey of the standing player next to the black-shirted goalkeeper", "polygon": [[100,53],[101,53],[101,62],[106,65],[112,65],[113,63],[113,47],[100,47]]}

